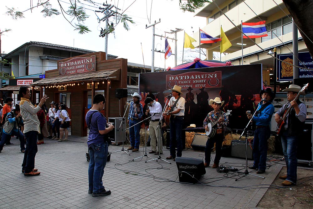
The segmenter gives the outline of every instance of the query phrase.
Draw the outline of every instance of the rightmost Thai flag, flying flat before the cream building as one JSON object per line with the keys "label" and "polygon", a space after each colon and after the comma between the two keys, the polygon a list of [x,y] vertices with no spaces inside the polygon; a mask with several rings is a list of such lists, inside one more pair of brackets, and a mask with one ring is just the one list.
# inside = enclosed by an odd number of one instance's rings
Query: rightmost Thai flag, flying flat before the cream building
{"label": "rightmost Thai flag, flying flat before the cream building", "polygon": [[254,39],[267,36],[265,21],[257,23],[242,23],[242,32],[247,36],[243,36],[244,39]]}

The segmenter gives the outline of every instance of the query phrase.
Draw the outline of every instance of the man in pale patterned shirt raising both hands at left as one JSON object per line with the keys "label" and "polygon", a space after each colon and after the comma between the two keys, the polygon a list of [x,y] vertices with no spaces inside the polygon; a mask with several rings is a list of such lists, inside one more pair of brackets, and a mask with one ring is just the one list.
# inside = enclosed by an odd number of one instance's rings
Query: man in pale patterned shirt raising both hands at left
{"label": "man in pale patterned shirt raising both hands at left", "polygon": [[19,89],[21,97],[20,108],[21,115],[24,120],[24,135],[26,138],[26,149],[22,164],[22,172],[25,176],[39,175],[38,169],[35,169],[35,156],[38,151],[37,136],[40,133],[40,123],[36,113],[43,106],[44,102],[49,98],[47,95],[40,100],[37,107],[30,102],[30,90],[27,86],[21,86]]}

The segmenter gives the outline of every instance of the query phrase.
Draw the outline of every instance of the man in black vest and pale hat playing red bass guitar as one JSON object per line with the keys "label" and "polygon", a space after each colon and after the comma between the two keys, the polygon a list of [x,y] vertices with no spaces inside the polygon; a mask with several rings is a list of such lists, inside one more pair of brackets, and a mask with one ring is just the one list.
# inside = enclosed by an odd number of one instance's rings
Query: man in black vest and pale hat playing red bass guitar
{"label": "man in black vest and pale hat playing red bass guitar", "polygon": [[[285,156],[287,175],[279,176],[283,179],[282,185],[291,186],[297,182],[297,145],[299,136],[303,132],[303,126],[306,119],[306,106],[299,99],[295,101],[295,97],[300,92],[301,87],[291,84],[289,88],[283,91],[287,93],[288,102],[283,105],[275,113],[275,121],[280,124],[281,117],[284,116],[285,110],[291,105],[291,110],[286,116],[285,123],[281,127],[280,138]],[[305,92],[300,92],[300,95],[305,95]]]}

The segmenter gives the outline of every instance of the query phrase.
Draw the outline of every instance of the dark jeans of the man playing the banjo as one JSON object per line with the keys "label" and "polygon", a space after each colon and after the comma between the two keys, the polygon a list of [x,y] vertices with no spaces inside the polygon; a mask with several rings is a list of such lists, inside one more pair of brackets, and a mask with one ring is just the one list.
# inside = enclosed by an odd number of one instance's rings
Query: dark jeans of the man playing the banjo
{"label": "dark jeans of the man playing the banjo", "polygon": [[219,161],[222,157],[222,144],[224,141],[224,134],[215,134],[214,137],[208,138],[206,146],[205,146],[205,151],[204,151],[204,162],[210,164],[211,161],[211,152],[214,147],[215,143],[215,159],[214,163],[219,164]]}

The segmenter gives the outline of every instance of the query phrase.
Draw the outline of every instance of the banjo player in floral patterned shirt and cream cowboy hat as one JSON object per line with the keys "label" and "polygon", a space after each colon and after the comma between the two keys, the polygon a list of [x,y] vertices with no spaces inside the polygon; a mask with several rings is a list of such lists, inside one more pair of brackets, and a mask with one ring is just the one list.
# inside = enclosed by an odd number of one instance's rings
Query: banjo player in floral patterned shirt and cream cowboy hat
{"label": "banjo player in floral patterned shirt and cream cowboy hat", "polygon": [[214,147],[215,143],[215,159],[212,168],[217,168],[219,161],[222,157],[222,144],[224,141],[224,132],[226,125],[228,124],[228,116],[225,115],[225,112],[221,111],[220,108],[223,106],[224,101],[221,101],[219,97],[215,97],[215,99],[210,99],[210,105],[213,107],[213,111],[209,112],[207,117],[203,121],[203,127],[206,131],[208,131],[208,123],[214,123],[218,121],[216,125],[212,128],[217,128],[216,133],[213,137],[208,138],[207,144],[205,147],[205,159],[204,159],[204,167],[208,167],[211,161],[211,151]]}

